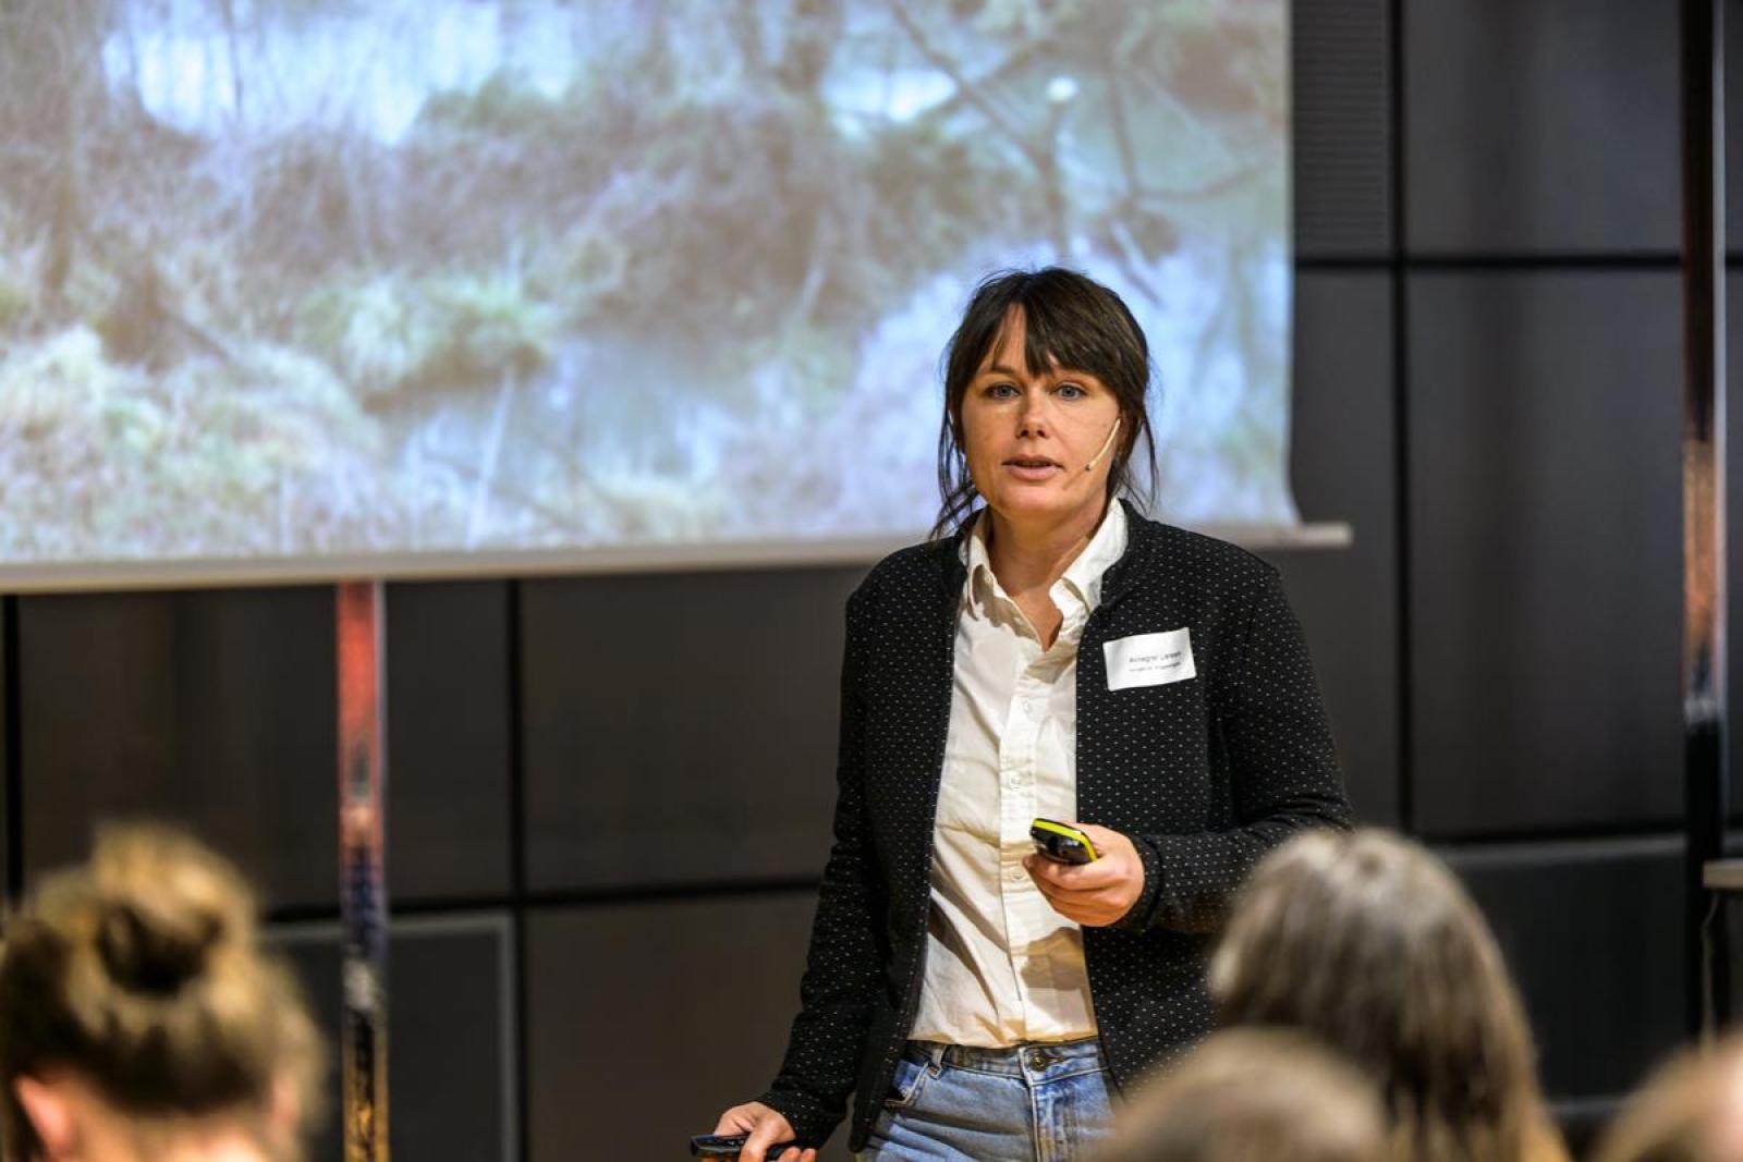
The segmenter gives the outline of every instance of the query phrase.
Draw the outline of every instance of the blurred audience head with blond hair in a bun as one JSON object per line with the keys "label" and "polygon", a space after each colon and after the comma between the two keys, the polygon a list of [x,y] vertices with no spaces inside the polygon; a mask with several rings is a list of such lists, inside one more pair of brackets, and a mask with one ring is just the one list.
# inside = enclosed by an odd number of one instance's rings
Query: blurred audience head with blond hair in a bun
{"label": "blurred audience head with blond hair in a bun", "polygon": [[241,875],[160,828],[110,828],[47,878],[0,958],[14,1162],[289,1162],[321,1044],[260,948]]}

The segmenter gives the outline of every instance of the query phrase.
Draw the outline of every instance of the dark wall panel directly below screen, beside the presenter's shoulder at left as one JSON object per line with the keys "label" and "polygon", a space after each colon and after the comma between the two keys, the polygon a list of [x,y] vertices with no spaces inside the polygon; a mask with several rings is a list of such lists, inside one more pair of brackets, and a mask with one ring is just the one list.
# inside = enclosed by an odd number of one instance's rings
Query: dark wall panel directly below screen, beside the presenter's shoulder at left
{"label": "dark wall panel directly below screen, beside the presenter's shoulder at left", "polygon": [[863,573],[526,582],[530,885],[816,876]]}

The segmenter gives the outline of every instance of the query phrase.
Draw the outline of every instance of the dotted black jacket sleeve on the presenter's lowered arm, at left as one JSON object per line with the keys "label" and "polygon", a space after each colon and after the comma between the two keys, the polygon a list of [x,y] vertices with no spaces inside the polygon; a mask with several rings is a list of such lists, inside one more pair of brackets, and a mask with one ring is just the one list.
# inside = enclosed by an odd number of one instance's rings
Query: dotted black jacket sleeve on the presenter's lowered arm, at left
{"label": "dotted black jacket sleeve on the presenter's lowered arm, at left", "polygon": [[774,1085],[758,1101],[781,1111],[805,1145],[821,1145],[847,1113],[884,965],[885,894],[865,814],[866,601],[847,601],[842,721],[837,760],[835,843],[823,869],[800,1010]]}

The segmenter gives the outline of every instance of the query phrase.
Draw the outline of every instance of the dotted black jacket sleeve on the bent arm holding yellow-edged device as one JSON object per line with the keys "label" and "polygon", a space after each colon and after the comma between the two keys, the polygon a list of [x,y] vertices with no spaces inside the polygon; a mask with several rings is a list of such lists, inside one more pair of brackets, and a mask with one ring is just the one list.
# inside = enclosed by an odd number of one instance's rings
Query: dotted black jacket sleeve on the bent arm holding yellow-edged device
{"label": "dotted black jacket sleeve on the bent arm holding yellow-edged device", "polygon": [[1272,847],[1307,828],[1349,828],[1337,747],[1300,622],[1276,570],[1264,566],[1231,652],[1227,711],[1234,814],[1229,831],[1135,834],[1143,892],[1116,929],[1211,932],[1234,890]]}

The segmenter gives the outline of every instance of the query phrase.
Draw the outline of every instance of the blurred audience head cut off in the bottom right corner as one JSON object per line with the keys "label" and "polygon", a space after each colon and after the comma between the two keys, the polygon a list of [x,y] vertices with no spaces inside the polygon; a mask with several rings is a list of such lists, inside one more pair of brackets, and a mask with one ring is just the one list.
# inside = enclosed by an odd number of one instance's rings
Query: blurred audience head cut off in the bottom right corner
{"label": "blurred audience head cut off in the bottom right corner", "polygon": [[1623,1106],[1597,1162],[1743,1162],[1743,1035],[1654,1073]]}

